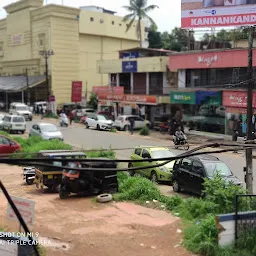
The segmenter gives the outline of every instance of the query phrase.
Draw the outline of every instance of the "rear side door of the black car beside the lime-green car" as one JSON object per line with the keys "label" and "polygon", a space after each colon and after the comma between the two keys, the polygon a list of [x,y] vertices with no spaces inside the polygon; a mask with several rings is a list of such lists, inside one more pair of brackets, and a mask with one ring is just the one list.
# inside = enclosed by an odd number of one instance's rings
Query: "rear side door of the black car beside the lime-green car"
{"label": "rear side door of the black car beside the lime-green car", "polygon": [[191,169],[192,160],[190,158],[183,158],[178,170],[178,181],[180,183],[180,186],[183,187],[186,191],[190,191],[191,189]]}

